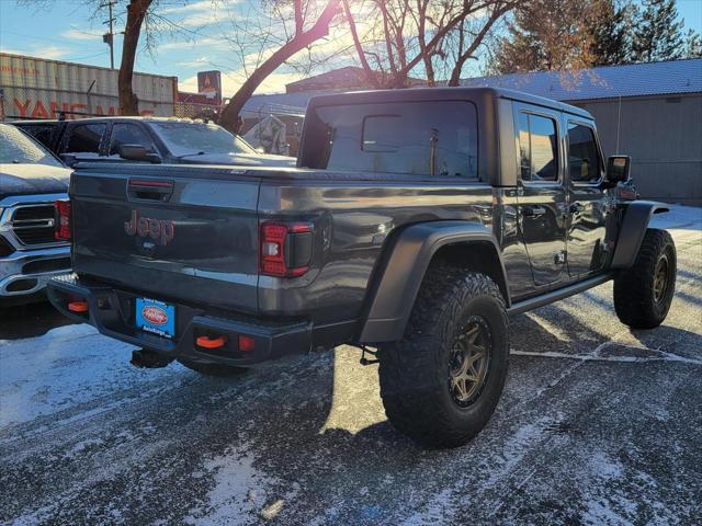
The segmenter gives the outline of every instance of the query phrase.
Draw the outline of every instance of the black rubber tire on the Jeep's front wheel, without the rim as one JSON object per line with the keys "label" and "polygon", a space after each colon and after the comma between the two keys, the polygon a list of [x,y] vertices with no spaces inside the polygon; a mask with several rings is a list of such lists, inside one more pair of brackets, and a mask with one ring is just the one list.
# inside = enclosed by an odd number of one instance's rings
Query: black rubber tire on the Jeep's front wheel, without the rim
{"label": "black rubber tire on the Jeep's front wheel, without the rim", "polygon": [[[656,294],[656,274],[667,260],[667,283]],[[614,310],[632,329],[654,329],[668,316],[676,289],[676,245],[666,230],[649,228],[636,254],[634,266],[614,278]]]}

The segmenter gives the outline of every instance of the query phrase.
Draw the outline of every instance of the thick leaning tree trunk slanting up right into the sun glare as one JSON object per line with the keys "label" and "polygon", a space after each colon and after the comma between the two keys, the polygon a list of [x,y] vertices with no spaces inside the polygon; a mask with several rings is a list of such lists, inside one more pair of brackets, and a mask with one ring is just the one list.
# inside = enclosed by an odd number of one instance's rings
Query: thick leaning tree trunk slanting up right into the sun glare
{"label": "thick leaning tree trunk slanting up right into the sun glare", "polygon": [[222,126],[235,134],[239,130],[239,113],[241,113],[246,101],[251,98],[256,89],[261,85],[261,82],[285,62],[285,60],[315,41],[329,34],[329,24],[339,11],[340,2],[341,0],[329,0],[315,25],[308,31],[296,32],[290,42],[283,44],[280,49],[251,73],[222,112],[222,117],[219,118]]}

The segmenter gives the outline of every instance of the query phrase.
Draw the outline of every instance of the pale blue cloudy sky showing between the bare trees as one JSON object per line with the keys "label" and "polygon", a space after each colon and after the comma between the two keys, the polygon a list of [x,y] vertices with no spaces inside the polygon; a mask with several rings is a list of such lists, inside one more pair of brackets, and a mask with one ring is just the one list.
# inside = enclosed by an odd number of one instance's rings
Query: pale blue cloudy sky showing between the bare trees
{"label": "pale blue cloudy sky showing between the bare trees", "polygon": [[[101,35],[106,31],[106,9],[95,5],[107,0],[0,0],[0,50],[92,66],[110,66],[110,53]],[[213,9],[213,3],[217,9]],[[686,27],[702,33],[702,0],[678,0]],[[182,91],[197,91],[196,73],[210,69],[223,72],[223,92],[231,95],[247,71],[275,46],[275,36],[261,27],[257,0],[160,0],[156,20],[159,36],[151,53],[140,49],[136,70],[176,76]],[[125,2],[115,7],[116,30],[124,26]],[[170,22],[167,22],[170,21]],[[236,22],[235,22],[236,21]],[[280,28],[276,32],[280,35]],[[247,35],[246,38],[242,38]],[[242,44],[241,41],[245,41]],[[140,42],[140,44],[144,44]],[[353,64],[352,54],[341,49],[348,43],[332,34],[321,49],[338,52],[331,67]],[[120,65],[121,35],[115,36],[115,66]],[[261,50],[263,49],[263,53]],[[269,52],[270,53],[270,52]],[[259,93],[285,91],[285,84],[304,78],[283,66],[259,88]]]}

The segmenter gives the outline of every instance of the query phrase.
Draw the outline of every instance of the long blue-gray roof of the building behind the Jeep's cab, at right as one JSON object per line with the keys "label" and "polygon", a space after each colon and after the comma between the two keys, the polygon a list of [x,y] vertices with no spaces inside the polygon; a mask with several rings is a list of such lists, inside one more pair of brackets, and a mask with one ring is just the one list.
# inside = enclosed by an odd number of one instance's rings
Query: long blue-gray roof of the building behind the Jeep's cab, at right
{"label": "long blue-gray roof of the building behind the Jeep's cab, at right", "polygon": [[603,66],[575,73],[535,71],[464,79],[468,88],[505,88],[556,101],[702,92],[702,58]]}

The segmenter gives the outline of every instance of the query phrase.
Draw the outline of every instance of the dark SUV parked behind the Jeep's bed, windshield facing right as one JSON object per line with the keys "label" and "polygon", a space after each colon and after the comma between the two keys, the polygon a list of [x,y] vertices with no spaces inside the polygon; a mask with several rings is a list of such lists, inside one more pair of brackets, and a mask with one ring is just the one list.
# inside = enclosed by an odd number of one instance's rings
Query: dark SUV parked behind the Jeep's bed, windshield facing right
{"label": "dark SUV parked behind the Jeep's bed, windshield facing right", "polygon": [[168,164],[293,167],[295,159],[254,150],[213,123],[163,117],[15,121],[67,164],[86,160]]}

